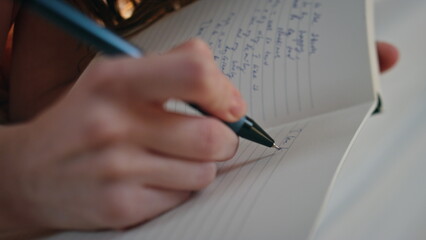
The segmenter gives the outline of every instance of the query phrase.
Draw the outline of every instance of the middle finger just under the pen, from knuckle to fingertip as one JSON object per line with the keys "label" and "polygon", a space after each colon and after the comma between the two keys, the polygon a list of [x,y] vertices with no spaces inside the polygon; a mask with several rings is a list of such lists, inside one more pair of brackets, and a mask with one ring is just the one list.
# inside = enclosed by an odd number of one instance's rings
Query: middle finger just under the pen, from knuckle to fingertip
{"label": "middle finger just under the pen, from knuckle to fingertip", "polygon": [[228,160],[238,147],[237,135],[214,118],[166,112],[155,106],[144,108],[140,116],[113,110],[96,105],[81,118],[80,129],[68,127],[71,132],[63,134],[70,142],[67,147],[92,151],[124,143],[170,157],[204,162]]}

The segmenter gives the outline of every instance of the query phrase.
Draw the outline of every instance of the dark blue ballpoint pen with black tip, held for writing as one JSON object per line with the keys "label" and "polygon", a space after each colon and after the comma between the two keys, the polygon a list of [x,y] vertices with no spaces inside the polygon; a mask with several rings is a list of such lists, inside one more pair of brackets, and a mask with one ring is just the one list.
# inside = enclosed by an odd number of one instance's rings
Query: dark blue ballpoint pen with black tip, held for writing
{"label": "dark blue ballpoint pen with black tip, held for writing", "polygon": [[[52,23],[66,30],[72,36],[93,46],[106,55],[127,55],[134,58],[140,58],[143,56],[140,49],[108,29],[101,27],[96,22],[92,21],[90,18],[86,17],[77,9],[62,0],[21,1],[40,13],[43,17],[50,20]],[[204,115],[210,115],[197,105],[189,105]],[[278,150],[281,149],[275,144],[272,137],[270,137],[255,121],[247,116],[242,117],[236,122],[224,123],[242,138],[267,147],[274,147]]]}

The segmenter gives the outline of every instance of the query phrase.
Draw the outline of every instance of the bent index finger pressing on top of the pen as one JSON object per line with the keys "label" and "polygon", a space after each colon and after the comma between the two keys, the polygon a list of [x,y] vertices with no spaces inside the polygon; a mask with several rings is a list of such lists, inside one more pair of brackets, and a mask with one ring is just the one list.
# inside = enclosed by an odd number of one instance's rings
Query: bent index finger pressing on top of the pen
{"label": "bent index finger pressing on top of the pen", "polygon": [[240,119],[246,108],[201,40],[190,40],[162,56],[104,61],[88,74],[103,79],[102,88],[124,94],[131,102],[180,99],[230,122]]}

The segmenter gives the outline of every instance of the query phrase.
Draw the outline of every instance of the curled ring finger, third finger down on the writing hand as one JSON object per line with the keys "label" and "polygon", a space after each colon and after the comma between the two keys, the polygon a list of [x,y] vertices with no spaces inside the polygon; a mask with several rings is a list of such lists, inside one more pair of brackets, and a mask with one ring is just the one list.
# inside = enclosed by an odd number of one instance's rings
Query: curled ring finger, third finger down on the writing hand
{"label": "curled ring finger, third finger down on the writing hand", "polygon": [[130,146],[111,147],[95,155],[89,170],[106,183],[195,191],[206,187],[216,176],[214,163],[171,158]]}

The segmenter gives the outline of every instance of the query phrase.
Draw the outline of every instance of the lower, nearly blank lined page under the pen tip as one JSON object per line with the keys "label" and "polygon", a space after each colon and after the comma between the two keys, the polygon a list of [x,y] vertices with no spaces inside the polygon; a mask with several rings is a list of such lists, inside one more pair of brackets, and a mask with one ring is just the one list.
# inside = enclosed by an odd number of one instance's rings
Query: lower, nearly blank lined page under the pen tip
{"label": "lower, nearly blank lined page under the pen tip", "polygon": [[274,128],[281,151],[243,140],[209,187],[142,226],[51,240],[307,239],[339,162],[372,106]]}

